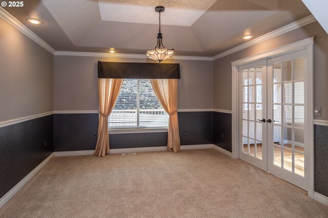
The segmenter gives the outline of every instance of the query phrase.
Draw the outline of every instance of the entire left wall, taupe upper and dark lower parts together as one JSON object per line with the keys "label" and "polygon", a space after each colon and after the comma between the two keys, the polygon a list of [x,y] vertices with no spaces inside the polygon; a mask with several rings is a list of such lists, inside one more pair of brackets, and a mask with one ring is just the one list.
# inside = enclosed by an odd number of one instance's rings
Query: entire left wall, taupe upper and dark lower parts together
{"label": "entire left wall, taupe upper and dark lower parts together", "polygon": [[[3,19],[0,51],[0,122],[53,111],[53,55]],[[53,115],[0,128],[0,198],[52,152]]]}

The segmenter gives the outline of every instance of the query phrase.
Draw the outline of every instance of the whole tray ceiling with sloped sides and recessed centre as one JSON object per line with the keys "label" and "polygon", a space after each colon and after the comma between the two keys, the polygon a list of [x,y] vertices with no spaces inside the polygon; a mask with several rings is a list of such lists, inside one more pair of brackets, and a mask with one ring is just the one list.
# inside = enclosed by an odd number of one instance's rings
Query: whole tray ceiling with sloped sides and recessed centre
{"label": "whole tray ceiling with sloped sides and recessed centre", "polygon": [[[56,51],[145,54],[156,45],[164,6],[163,44],[175,55],[212,57],[311,13],[301,0],[29,0],[5,9]],[[136,11],[134,11],[134,9]],[[25,19],[35,17],[43,25]]]}

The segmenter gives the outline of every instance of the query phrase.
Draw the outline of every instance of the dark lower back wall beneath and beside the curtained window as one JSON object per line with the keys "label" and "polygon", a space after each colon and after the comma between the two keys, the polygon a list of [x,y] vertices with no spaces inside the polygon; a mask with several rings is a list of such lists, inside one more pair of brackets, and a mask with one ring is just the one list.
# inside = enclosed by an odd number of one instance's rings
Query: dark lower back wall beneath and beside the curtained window
{"label": "dark lower back wall beneath and beside the curtained window", "polygon": [[[181,145],[213,143],[213,112],[178,112]],[[94,150],[98,114],[54,114],[54,151]],[[183,133],[186,132],[186,135]],[[110,134],[111,149],[166,146],[167,132]]]}

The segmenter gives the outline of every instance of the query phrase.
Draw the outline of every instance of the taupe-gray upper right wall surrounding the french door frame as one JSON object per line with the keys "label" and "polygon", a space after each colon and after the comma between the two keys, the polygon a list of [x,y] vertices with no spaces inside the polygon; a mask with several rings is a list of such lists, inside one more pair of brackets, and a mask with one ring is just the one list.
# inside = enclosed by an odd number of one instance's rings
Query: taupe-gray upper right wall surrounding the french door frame
{"label": "taupe-gray upper right wall surrounding the french door frame", "polygon": [[214,108],[231,110],[231,62],[259,54],[276,47],[315,36],[314,49],[314,106],[321,107],[322,115],[316,119],[328,120],[328,35],[318,22],[310,23],[291,32],[266,40],[247,49],[214,61]]}

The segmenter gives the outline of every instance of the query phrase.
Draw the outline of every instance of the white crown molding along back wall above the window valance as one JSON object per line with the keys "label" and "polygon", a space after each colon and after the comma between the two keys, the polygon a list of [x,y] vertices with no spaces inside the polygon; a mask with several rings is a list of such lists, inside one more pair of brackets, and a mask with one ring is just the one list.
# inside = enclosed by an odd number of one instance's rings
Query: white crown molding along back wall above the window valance
{"label": "white crown molding along back wall above the window valance", "polygon": [[[138,58],[148,59],[146,54],[119,54],[119,53],[96,53],[96,52],[66,52],[56,51],[54,55],[62,56],[81,56],[81,57],[104,57],[104,58]],[[174,60],[194,60],[194,61],[213,61],[212,57],[198,57],[198,56],[172,56],[170,59]]]}

